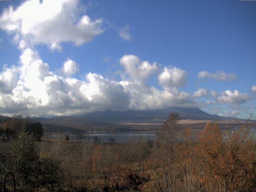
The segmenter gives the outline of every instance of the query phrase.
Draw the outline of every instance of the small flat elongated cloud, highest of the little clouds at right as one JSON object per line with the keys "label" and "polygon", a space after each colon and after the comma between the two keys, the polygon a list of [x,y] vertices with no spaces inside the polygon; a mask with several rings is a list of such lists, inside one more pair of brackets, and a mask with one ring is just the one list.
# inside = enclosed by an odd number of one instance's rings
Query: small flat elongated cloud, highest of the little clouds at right
{"label": "small flat elongated cloud, highest of the little clouds at right", "polygon": [[212,78],[214,80],[225,82],[228,80],[234,80],[237,77],[235,74],[225,73],[224,71],[221,70],[215,73],[209,73],[208,71],[200,71],[198,73],[198,78]]}

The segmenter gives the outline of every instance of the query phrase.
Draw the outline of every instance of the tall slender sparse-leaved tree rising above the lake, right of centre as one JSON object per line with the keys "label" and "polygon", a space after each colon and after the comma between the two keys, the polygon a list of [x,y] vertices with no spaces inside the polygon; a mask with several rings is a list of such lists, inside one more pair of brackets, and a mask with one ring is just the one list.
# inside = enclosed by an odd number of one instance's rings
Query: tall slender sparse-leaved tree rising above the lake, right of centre
{"label": "tall slender sparse-leaved tree rising above the lake, right of centre", "polygon": [[170,165],[173,162],[174,141],[177,139],[178,130],[180,129],[179,120],[178,113],[170,113],[167,120],[162,124],[160,132],[156,133],[160,156]]}

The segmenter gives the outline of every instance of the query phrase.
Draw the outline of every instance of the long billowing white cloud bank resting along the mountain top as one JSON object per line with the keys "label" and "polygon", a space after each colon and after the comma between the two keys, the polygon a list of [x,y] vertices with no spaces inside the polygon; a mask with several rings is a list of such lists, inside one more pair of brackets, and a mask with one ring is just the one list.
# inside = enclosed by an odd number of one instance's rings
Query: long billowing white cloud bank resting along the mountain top
{"label": "long billowing white cloud bank resting along the mountain top", "polygon": [[[66,63],[69,64],[66,66]],[[73,69],[76,66],[74,63],[74,60],[68,59],[62,69],[66,66],[66,73],[72,74],[76,71]],[[137,56],[124,55],[120,64],[129,76],[121,82],[95,73],[88,73],[85,80],[79,80],[52,72],[50,65],[43,62],[35,50],[25,49],[20,55],[20,66],[5,67],[1,72],[0,83],[4,82],[7,88],[4,91],[1,89],[0,113],[45,116],[106,109],[198,106],[190,94],[180,92],[176,87],[159,90],[148,86],[145,80],[158,70],[156,63],[150,64]]]}

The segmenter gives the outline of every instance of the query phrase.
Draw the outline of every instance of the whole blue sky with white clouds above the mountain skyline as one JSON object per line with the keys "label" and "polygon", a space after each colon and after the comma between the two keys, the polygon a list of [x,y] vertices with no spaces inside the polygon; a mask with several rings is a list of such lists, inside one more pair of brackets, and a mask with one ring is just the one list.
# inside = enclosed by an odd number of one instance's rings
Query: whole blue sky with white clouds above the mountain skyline
{"label": "whole blue sky with white clouds above the mountain skyline", "polygon": [[0,115],[198,107],[256,119],[256,1],[0,1]]}

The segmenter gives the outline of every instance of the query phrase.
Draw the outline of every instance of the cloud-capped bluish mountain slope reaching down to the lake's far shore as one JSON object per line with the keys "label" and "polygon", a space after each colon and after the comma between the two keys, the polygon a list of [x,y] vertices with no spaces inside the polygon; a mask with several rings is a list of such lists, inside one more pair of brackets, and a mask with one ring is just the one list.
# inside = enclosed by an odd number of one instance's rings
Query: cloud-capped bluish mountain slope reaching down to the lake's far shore
{"label": "cloud-capped bluish mountain slope reaching down to the lake's far shore", "polygon": [[[158,130],[162,122],[171,112],[177,112],[186,125],[204,127],[205,121],[198,120],[234,120],[232,117],[208,114],[199,108],[168,107],[150,110],[97,111],[79,116],[56,116],[52,118],[31,118],[31,121],[39,121],[46,131],[74,131],[83,129],[87,131],[134,131],[134,130]],[[0,116],[0,122],[6,118]],[[235,122],[235,121],[234,121]],[[222,122],[223,123],[223,122]],[[226,122],[223,123],[226,126]],[[237,125],[234,125],[237,127]]]}

